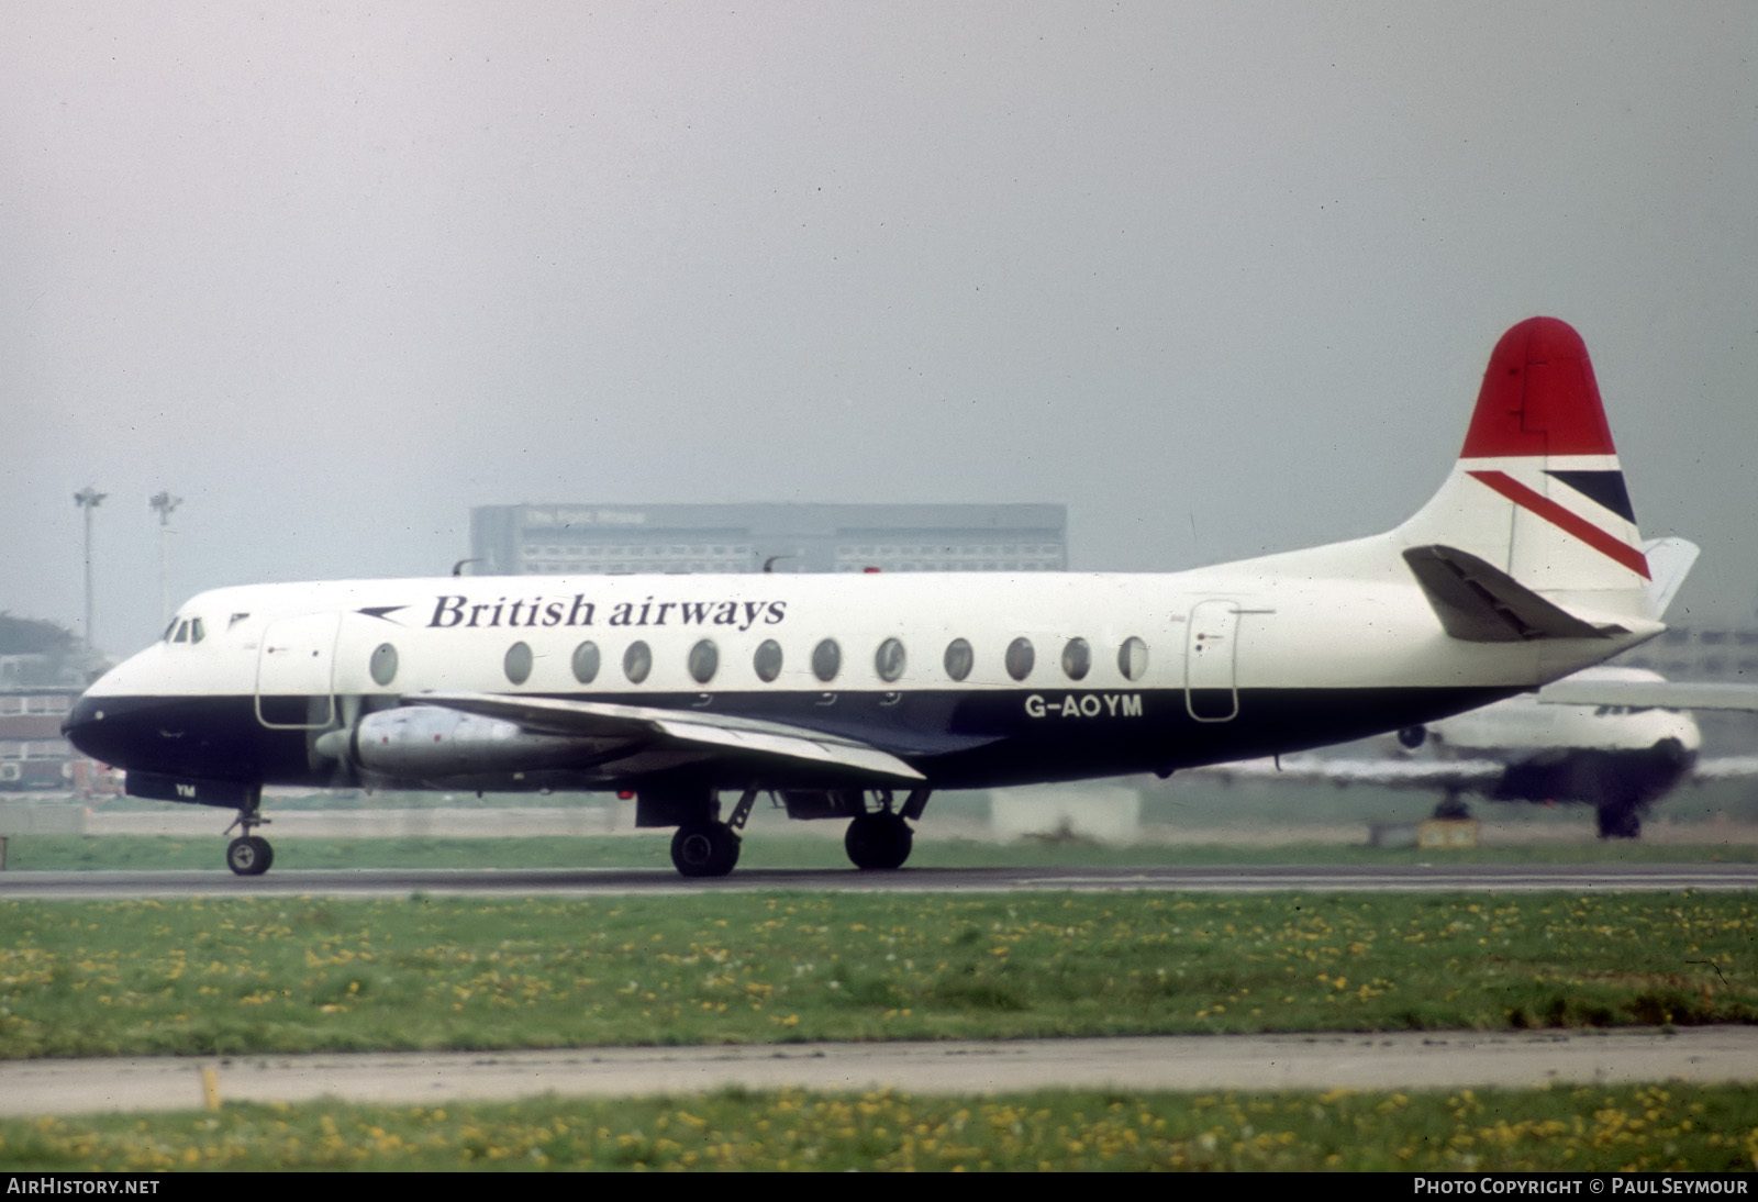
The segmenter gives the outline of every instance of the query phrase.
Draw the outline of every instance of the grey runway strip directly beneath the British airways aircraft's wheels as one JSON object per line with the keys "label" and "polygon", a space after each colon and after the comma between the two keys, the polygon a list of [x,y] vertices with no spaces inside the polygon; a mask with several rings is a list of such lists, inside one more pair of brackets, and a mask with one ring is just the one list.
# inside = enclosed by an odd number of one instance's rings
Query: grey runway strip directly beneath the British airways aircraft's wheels
{"label": "grey runway strip directly beneath the British airways aircraft's wheels", "polygon": [[589,896],[714,891],[999,893],[1542,893],[1758,889],[1758,865],[1401,865],[1169,868],[853,868],[738,870],[686,880],[661,868],[348,868],[272,870],[264,877],[204,872],[5,872],[0,898],[332,896],[410,893]]}

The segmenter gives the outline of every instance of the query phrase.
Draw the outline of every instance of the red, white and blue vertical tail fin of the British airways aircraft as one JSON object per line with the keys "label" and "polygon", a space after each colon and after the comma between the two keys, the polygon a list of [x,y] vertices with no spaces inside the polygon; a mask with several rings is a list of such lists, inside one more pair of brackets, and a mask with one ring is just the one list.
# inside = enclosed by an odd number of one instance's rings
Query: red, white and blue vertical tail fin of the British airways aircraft
{"label": "red, white and blue vertical tail fin of the British airways aircraft", "polygon": [[1580,336],[1528,318],[1496,343],[1447,483],[1398,529],[1565,610],[1653,617],[1651,569]]}

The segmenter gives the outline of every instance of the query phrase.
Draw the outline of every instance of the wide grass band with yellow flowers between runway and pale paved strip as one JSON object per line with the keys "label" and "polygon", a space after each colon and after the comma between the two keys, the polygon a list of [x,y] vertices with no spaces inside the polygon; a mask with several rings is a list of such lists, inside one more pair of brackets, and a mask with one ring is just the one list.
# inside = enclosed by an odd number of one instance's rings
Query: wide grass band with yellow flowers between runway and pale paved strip
{"label": "wide grass band with yellow flowers between runway and pale paved strip", "polygon": [[1758,1019],[1746,894],[0,903],[0,1056]]}

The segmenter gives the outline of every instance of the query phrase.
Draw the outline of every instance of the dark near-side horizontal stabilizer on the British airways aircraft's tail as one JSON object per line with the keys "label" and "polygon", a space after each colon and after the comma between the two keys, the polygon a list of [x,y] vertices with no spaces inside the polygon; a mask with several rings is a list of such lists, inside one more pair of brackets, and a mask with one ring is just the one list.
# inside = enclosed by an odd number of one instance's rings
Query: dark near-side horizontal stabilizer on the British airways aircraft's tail
{"label": "dark near-side horizontal stabilizer on the British airways aircraft's tail", "polygon": [[1405,562],[1452,638],[1466,643],[1519,643],[1535,638],[1607,638],[1600,629],[1545,601],[1500,568],[1454,547],[1412,547]]}

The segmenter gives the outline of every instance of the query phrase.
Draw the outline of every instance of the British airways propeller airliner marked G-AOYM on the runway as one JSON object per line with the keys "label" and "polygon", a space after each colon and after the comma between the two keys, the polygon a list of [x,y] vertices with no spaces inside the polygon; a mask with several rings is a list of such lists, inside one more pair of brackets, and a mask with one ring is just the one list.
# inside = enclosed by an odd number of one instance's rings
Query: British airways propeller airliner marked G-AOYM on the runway
{"label": "British airways propeller airliner marked G-AOYM on the runway", "polygon": [[[1580,336],[1496,344],[1440,492],[1373,538],[1167,575],[466,576],[204,592],[67,719],[134,796],[626,791],[687,877],[770,793],[897,868],[932,789],[1160,775],[1408,728],[1663,629]],[[738,801],[721,814],[721,793]],[[902,801],[895,798],[902,794]]]}

